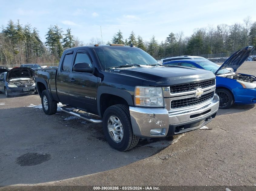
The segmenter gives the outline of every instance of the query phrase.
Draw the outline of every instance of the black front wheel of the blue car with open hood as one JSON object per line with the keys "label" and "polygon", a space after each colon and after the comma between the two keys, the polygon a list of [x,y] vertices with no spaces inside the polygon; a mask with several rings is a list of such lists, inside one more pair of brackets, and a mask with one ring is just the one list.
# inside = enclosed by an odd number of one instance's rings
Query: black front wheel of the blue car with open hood
{"label": "black front wheel of the blue car with open hood", "polygon": [[224,88],[216,90],[216,94],[220,97],[219,109],[228,109],[234,104],[233,94]]}

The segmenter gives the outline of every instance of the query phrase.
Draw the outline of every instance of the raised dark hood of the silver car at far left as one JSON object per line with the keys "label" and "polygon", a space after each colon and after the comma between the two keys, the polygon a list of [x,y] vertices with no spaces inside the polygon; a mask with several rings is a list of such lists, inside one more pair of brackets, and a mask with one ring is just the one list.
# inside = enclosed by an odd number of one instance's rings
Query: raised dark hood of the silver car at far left
{"label": "raised dark hood of the silver car at far left", "polygon": [[12,78],[31,78],[34,79],[34,70],[31,68],[12,68],[10,71],[6,74],[6,81],[12,79]]}

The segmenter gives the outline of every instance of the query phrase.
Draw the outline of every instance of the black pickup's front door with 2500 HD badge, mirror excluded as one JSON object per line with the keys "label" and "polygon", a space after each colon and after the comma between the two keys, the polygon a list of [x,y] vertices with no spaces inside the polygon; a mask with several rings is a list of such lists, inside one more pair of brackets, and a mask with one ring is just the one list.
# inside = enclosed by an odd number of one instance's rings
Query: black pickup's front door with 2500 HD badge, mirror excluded
{"label": "black pickup's front door with 2500 HD badge, mirror excluded", "polygon": [[[74,60],[74,64],[78,62],[86,62],[94,68],[91,55],[85,49],[79,49]],[[98,77],[92,73],[74,72],[72,67],[69,74],[68,84],[69,97],[72,106],[83,110],[86,109],[89,113],[97,113],[97,87]]]}

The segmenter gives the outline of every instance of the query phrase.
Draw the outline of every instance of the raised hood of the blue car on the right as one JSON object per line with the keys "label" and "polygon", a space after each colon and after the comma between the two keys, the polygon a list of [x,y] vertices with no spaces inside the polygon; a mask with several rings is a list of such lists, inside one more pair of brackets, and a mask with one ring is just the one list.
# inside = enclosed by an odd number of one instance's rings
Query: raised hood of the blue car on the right
{"label": "raised hood of the blue car on the right", "polygon": [[238,50],[221,65],[221,67],[215,72],[215,75],[218,74],[219,70],[224,68],[233,68],[234,72],[236,72],[237,68],[239,68],[244,61],[248,59],[252,51],[254,51],[254,46],[246,46]]}

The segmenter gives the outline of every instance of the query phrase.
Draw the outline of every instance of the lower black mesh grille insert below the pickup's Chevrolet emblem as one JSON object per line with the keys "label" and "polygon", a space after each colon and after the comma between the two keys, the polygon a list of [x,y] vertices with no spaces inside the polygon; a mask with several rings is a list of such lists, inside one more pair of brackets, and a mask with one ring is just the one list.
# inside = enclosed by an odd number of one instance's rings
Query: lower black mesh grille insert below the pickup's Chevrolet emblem
{"label": "lower black mesh grille insert below the pickup's Chevrolet emblem", "polygon": [[198,97],[198,98],[197,97],[189,97],[189,98],[180,99],[180,100],[172,100],[171,101],[171,109],[197,105],[197,104],[203,103],[207,100],[210,100],[213,97],[214,97],[214,91],[207,93],[207,94],[203,94],[201,97]]}

